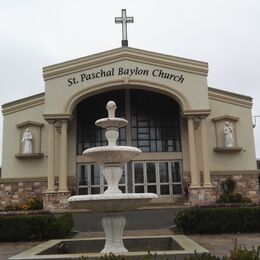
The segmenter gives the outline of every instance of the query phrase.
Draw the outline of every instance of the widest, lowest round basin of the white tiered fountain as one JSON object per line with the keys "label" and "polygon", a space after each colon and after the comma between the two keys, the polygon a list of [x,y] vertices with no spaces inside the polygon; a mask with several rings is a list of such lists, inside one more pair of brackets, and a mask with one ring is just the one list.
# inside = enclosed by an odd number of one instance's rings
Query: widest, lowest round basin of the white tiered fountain
{"label": "widest, lowest round basin of the white tiered fountain", "polygon": [[88,209],[96,212],[122,212],[146,206],[152,199],[158,198],[154,193],[114,193],[79,195],[69,198],[73,209]]}

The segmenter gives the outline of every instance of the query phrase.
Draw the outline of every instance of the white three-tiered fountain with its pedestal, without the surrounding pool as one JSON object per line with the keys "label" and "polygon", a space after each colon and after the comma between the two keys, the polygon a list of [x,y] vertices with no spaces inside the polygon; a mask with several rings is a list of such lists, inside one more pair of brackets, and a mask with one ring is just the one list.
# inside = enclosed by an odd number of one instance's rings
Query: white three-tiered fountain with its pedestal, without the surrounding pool
{"label": "white three-tiered fountain with its pedestal, without the surrounding pool", "polygon": [[108,118],[97,120],[96,125],[106,129],[108,146],[90,148],[83,154],[103,166],[108,188],[104,194],[72,196],[69,198],[69,204],[74,209],[83,208],[107,213],[102,219],[106,242],[101,253],[125,253],[128,250],[124,247],[122,237],[126,221],[118,212],[140,208],[158,196],[153,193],[122,193],[118,188],[122,176],[122,163],[141,154],[141,150],[130,146],[117,146],[118,129],[125,127],[128,122],[115,117],[115,102],[109,101],[106,109]]}

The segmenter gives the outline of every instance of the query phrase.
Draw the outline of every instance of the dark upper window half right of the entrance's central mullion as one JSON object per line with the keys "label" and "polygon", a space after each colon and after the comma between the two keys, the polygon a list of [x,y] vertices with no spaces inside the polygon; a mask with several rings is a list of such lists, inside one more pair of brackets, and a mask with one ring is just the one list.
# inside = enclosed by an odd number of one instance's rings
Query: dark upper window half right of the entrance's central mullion
{"label": "dark upper window half right of the entrance's central mullion", "polygon": [[171,98],[131,91],[132,145],[143,152],[180,152],[179,105]]}

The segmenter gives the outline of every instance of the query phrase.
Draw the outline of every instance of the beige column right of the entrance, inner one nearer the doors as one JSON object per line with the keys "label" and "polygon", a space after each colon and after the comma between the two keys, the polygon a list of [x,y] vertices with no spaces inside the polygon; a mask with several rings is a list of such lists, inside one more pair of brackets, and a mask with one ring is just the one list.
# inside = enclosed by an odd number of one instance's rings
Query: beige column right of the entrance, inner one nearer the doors
{"label": "beige column right of the entrance, inner one nearer the doors", "polygon": [[193,118],[188,117],[188,138],[189,138],[189,153],[190,153],[190,188],[200,188],[200,176],[197,169],[196,149],[195,149],[195,135]]}

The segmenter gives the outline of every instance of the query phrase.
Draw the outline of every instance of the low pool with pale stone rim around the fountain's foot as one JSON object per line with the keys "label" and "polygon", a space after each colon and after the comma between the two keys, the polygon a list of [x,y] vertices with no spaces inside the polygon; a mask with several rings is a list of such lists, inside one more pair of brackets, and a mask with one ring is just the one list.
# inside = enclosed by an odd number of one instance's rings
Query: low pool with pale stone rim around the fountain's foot
{"label": "low pool with pale stone rim around the fountain's foot", "polygon": [[[118,255],[123,254],[129,259],[140,259],[150,252],[156,253],[157,259],[161,256],[161,259],[181,260],[194,255],[195,251],[199,254],[208,252],[184,235],[125,237],[123,242],[128,252]],[[9,259],[78,259],[82,256],[98,259],[104,254],[96,252],[99,252],[104,245],[105,239],[101,238],[50,240]]]}

